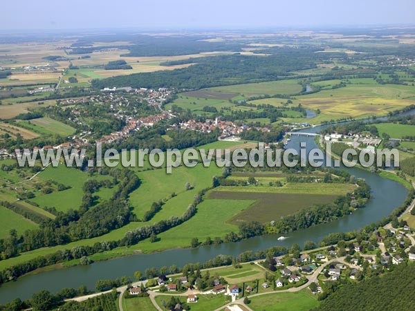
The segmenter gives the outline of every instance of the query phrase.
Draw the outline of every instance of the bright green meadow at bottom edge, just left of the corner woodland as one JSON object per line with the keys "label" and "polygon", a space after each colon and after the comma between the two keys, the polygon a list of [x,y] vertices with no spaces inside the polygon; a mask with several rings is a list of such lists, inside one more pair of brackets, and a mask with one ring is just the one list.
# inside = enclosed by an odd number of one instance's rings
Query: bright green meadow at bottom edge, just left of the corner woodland
{"label": "bright green meadow at bottom edge, just left of the corner woodland", "polygon": [[319,304],[308,289],[256,296],[250,301],[249,308],[254,311],[308,311]]}

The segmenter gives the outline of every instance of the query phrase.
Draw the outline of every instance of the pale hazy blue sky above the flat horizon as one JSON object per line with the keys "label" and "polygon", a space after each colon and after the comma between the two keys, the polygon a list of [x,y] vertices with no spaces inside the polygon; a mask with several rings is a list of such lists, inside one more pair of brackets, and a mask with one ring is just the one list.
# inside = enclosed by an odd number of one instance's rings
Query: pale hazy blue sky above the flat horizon
{"label": "pale hazy blue sky above the flat horizon", "polygon": [[3,0],[0,30],[415,23],[414,0]]}

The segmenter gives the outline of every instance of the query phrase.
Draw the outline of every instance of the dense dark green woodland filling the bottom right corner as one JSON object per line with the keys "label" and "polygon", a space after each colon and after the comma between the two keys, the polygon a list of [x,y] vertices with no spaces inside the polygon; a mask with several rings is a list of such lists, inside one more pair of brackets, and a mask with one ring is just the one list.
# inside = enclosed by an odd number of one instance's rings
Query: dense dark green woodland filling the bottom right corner
{"label": "dense dark green woodland filling the bottom right corner", "polygon": [[414,275],[414,264],[397,265],[391,273],[343,286],[315,310],[414,310]]}

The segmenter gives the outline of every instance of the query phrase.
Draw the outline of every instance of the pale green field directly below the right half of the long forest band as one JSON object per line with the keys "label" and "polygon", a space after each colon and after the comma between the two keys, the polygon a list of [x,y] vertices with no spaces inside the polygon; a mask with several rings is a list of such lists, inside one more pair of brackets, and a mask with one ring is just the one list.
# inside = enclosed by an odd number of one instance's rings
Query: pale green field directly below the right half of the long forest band
{"label": "pale green field directly below the right half of the long forest band", "polygon": [[246,97],[252,97],[258,95],[296,94],[301,92],[302,86],[298,84],[296,79],[288,79],[281,81],[218,86],[210,88],[210,90],[224,93],[239,93],[245,95]]}

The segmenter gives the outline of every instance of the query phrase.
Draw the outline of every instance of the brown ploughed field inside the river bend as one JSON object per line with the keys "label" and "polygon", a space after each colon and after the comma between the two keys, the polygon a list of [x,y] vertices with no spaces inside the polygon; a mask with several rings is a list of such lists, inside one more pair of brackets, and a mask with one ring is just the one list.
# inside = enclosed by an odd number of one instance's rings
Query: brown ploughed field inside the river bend
{"label": "brown ploughed field inside the river bend", "polygon": [[212,191],[211,199],[221,200],[255,200],[248,209],[244,209],[232,218],[232,223],[244,220],[255,220],[268,223],[283,216],[293,214],[300,209],[306,209],[314,204],[333,202],[337,196],[325,194],[272,194],[262,192]]}

